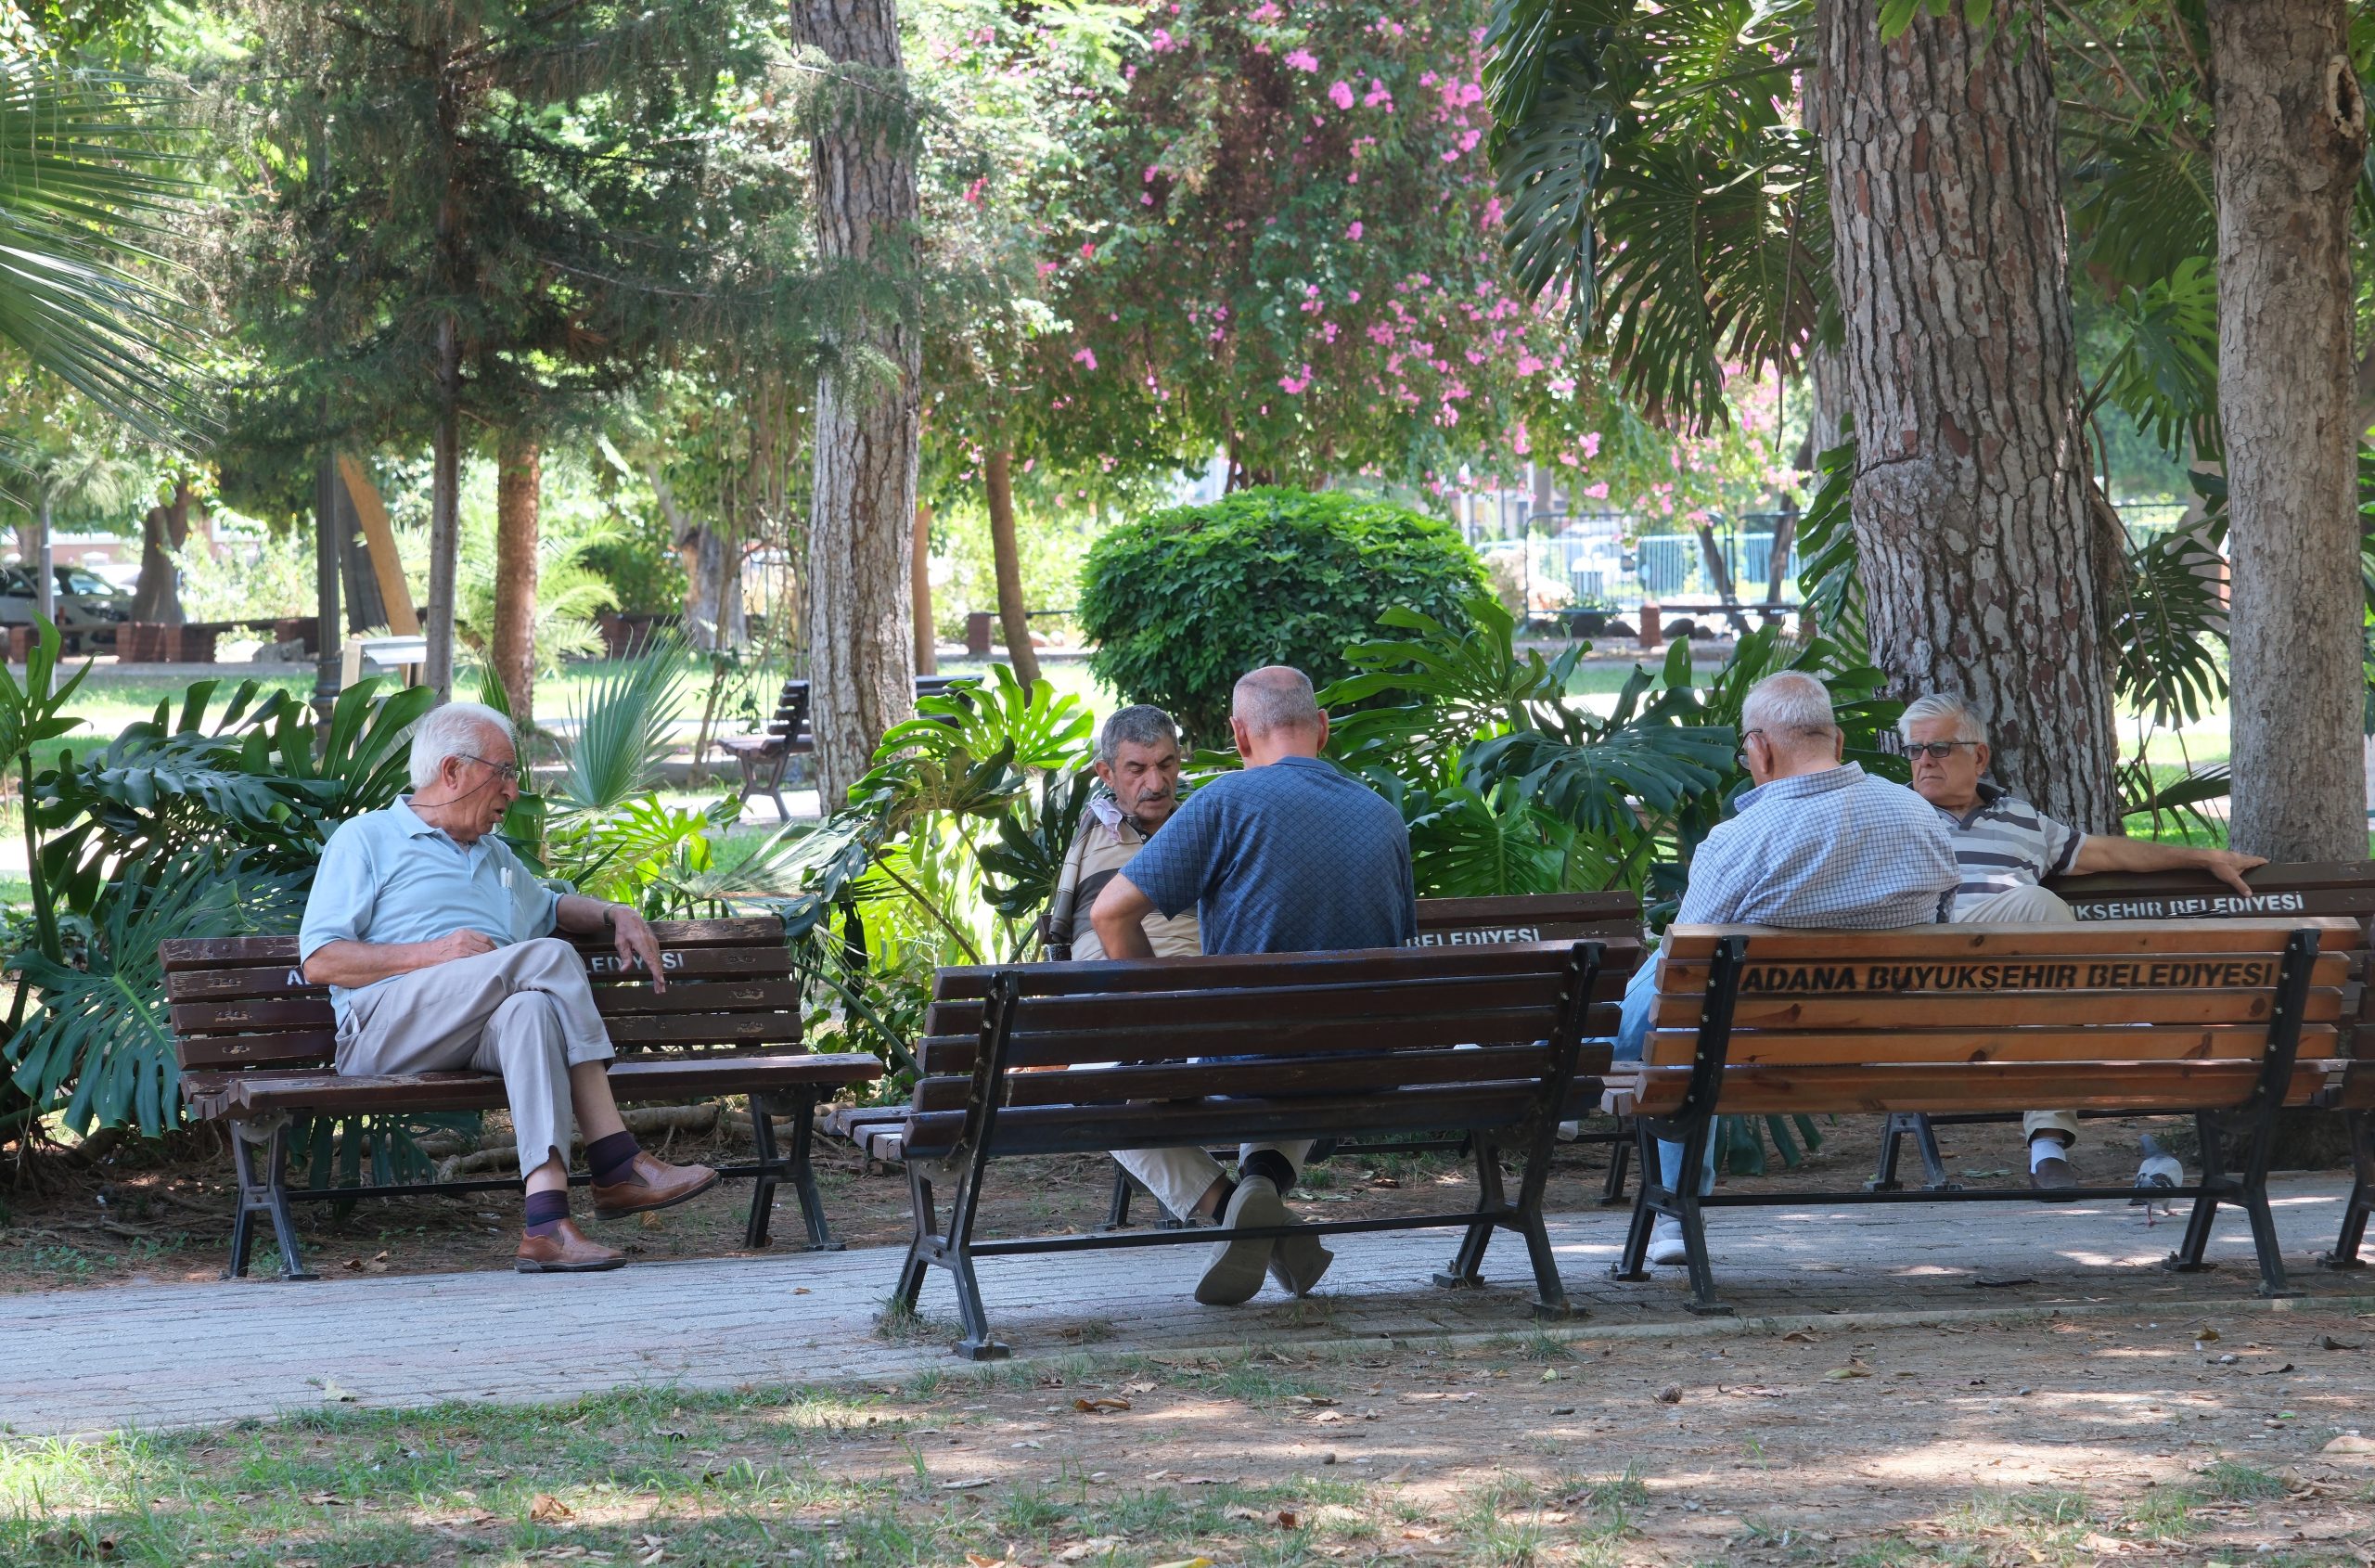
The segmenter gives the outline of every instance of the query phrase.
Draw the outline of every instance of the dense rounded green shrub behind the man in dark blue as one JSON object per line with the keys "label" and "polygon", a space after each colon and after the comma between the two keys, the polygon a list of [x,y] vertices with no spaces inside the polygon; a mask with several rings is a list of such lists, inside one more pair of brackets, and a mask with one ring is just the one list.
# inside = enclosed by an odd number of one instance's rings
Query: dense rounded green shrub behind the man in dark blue
{"label": "dense rounded green shrub behind the man in dark blue", "polygon": [[1354,672],[1344,649],[1389,606],[1465,627],[1484,568],[1449,523],[1347,494],[1242,489],[1107,532],[1081,573],[1090,668],[1133,703],[1228,744],[1228,694],[1259,665],[1313,684]]}

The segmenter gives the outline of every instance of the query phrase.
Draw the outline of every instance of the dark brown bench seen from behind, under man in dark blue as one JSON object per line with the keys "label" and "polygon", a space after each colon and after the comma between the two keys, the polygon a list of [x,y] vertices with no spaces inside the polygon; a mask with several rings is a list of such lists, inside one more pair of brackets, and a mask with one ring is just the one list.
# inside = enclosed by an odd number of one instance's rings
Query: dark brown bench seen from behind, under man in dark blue
{"label": "dark brown bench seen from behind, under man in dark blue", "polygon": [[[1608,1052],[1586,1041],[1615,1029],[1634,955],[1572,941],[940,969],[936,1026],[948,1033],[922,1043],[905,1128],[914,1243],[895,1302],[912,1309],[924,1273],[948,1269],[964,1323],[957,1354],[993,1359],[1007,1349],[990,1338],[974,1259],[1228,1235],[974,1240],[993,1159],[1461,1128],[1477,1162],[1472,1209],[1309,1231],[1461,1228],[1451,1266],[1434,1276],[1442,1285],[1477,1283],[1492,1235],[1515,1231],[1534,1266],[1537,1309],[1565,1314],[1541,1186],[1568,1105],[1601,1083]],[[1515,1197],[1501,1176],[1503,1147],[1525,1152]],[[950,1183],[945,1219],[933,1195],[940,1181]]]}

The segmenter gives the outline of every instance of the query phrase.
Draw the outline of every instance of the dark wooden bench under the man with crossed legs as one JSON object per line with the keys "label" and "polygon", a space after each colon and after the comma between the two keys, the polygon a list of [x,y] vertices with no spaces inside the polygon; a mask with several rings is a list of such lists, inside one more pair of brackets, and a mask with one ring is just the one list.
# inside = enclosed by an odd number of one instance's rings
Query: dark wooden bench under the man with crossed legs
{"label": "dark wooden bench under the man with crossed legs", "polygon": [[[750,1098],[755,1159],[727,1166],[748,1176],[746,1245],[767,1245],[777,1183],[791,1183],[808,1221],[810,1247],[834,1247],[810,1169],[815,1105],[836,1090],[881,1076],[869,1055],[810,1055],[800,1048],[800,984],[791,976],[784,924],[758,919],[663,919],[667,991],[653,991],[641,967],[620,962],[608,936],[580,936],[594,981],[594,1005],[610,1029],[618,1060],[610,1090],[622,1102]],[[332,1062],[337,1024],[330,993],[297,972],[294,936],[183,938],[159,948],[173,1017],[173,1048],[190,1114],[230,1124],[240,1207],[230,1231],[228,1278],[247,1273],[261,1214],[280,1243],[283,1278],[314,1278],[297,1252],[290,1205],[352,1202],[416,1193],[515,1188],[492,1181],[418,1181],[394,1186],[287,1183],[292,1117],[394,1117],[496,1109],[504,1081],[477,1071],[340,1076]],[[774,1114],[791,1117],[791,1150],[774,1138]],[[591,1181],[572,1174],[572,1183]]]}

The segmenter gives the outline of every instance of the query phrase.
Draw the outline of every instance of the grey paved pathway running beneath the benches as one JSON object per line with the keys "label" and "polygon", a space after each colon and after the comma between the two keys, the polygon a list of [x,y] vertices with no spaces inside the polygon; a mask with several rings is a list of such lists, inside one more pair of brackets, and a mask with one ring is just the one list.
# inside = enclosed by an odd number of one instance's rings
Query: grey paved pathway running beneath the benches
{"label": "grey paved pathway running beneath the benches", "polygon": [[[2375,1273],[2316,1269],[2346,1197],[2342,1178],[2275,1186],[2294,1285],[2375,1307]],[[788,1216],[786,1216],[788,1219]],[[2221,1212],[2209,1273],[2154,1264],[2180,1226],[2145,1228],[2126,1205],[1888,1205],[1729,1209],[1712,1216],[1717,1281],[1741,1319],[1684,1311],[1679,1269],[1624,1285],[1608,1264],[1624,1209],[1551,1224],[1582,1335],[1736,1333],[1760,1319],[1857,1314],[2123,1311],[2192,1319],[2261,1309],[2252,1243]],[[1446,1292],[1427,1273],[1451,1233],[1337,1238],[1320,1295],[1197,1307],[1202,1247],[1081,1259],[986,1259],[990,1321],[1016,1357],[1180,1352],[1244,1342],[1525,1333],[1525,1247],[1499,1238],[1487,1288]],[[962,1366],[945,1276],[924,1290],[926,1333],[876,1338],[898,1250],[774,1252],[639,1264],[601,1276],[430,1273],[200,1285],[119,1285],[19,1295],[0,1368],[0,1423],[19,1435],[200,1425],[318,1409],[442,1399],[534,1402],[618,1385],[739,1387],[895,1383]],[[2275,1304],[2282,1309],[2282,1304]]]}

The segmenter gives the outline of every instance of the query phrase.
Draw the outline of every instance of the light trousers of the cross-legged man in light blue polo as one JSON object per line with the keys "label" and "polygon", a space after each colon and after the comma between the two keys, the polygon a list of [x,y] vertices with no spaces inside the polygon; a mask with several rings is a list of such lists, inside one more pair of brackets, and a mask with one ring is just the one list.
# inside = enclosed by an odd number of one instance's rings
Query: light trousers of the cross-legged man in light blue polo
{"label": "light trousers of the cross-legged man in light blue polo", "polygon": [[610,1055],[587,962],[558,936],[356,991],[337,1031],[337,1069],[349,1076],[466,1067],[499,1074],[522,1176],[556,1155],[568,1164],[570,1067]]}

